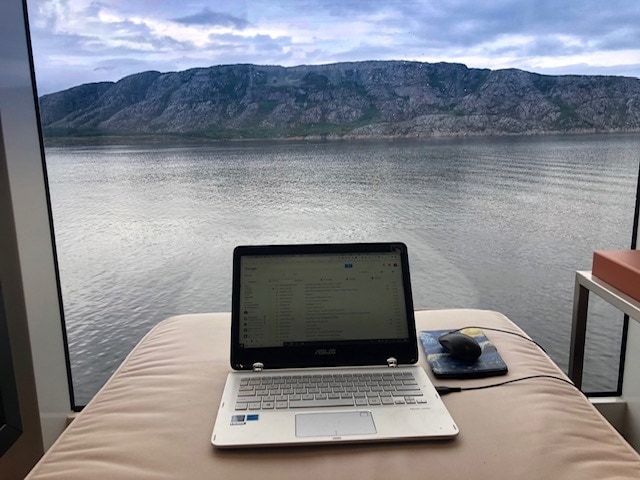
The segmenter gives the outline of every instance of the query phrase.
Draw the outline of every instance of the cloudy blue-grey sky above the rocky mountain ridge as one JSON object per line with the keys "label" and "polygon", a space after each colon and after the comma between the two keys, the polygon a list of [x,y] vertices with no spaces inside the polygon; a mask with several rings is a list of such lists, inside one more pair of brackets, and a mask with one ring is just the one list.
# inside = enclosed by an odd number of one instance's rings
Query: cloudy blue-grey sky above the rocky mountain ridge
{"label": "cloudy blue-grey sky above the rocky mountain ridge", "polygon": [[28,0],[38,92],[230,63],[640,77],[638,0]]}

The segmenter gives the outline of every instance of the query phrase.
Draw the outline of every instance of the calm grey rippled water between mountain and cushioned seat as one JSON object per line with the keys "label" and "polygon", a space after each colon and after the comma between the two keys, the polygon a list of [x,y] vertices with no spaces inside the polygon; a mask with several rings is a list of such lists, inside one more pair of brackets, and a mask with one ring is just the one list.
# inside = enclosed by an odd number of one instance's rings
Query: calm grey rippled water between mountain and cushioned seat
{"label": "calm grey rippled water between mountain and cushioned seat", "polygon": [[[498,310],[566,370],[576,270],[629,248],[638,135],[47,148],[76,403],[162,319],[229,311],[238,244],[403,241],[416,308]],[[593,297],[593,296],[592,296]],[[587,389],[622,315],[592,300]]]}

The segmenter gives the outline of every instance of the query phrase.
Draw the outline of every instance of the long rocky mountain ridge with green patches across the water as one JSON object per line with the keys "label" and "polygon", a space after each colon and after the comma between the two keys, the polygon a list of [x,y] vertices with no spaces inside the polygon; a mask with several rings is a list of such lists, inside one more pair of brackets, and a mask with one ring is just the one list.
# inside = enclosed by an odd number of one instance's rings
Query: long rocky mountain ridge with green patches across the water
{"label": "long rocky mountain ridge with green patches across the water", "polygon": [[47,137],[423,137],[640,131],[640,79],[452,63],[223,65],[40,98]]}

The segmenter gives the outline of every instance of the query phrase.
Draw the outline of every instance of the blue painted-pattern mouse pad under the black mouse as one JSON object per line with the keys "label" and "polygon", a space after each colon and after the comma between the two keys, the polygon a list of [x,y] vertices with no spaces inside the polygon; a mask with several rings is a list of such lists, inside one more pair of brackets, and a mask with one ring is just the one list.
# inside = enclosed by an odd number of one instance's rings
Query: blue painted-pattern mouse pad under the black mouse
{"label": "blue painted-pattern mouse pad under the black mouse", "polygon": [[479,328],[465,328],[460,332],[473,337],[482,348],[482,355],[475,362],[468,363],[449,355],[438,338],[451,330],[425,330],[420,332],[420,343],[427,357],[431,371],[438,378],[480,378],[504,375],[507,365],[496,347]]}

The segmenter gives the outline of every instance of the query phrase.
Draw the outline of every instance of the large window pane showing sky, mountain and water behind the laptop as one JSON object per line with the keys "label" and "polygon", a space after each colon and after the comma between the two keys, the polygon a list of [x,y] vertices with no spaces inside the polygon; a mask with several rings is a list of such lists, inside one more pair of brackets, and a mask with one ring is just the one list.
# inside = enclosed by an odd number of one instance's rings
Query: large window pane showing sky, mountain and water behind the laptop
{"label": "large window pane showing sky, mountain and water behind the laptop", "polygon": [[405,242],[416,307],[503,312],[566,369],[575,270],[631,240],[634,2],[29,13],[78,404],[163,318],[228,311],[239,244]]}

